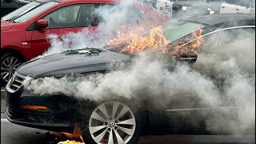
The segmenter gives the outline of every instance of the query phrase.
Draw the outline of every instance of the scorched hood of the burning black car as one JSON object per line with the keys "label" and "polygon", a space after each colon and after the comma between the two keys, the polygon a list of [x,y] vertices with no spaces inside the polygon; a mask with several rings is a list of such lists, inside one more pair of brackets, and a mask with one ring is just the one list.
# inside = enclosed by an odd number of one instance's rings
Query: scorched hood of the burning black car
{"label": "scorched hood of the burning black car", "polygon": [[103,50],[98,54],[53,54],[27,62],[17,70],[18,74],[32,78],[61,77],[66,74],[82,74],[108,69],[110,62],[129,62],[130,56]]}

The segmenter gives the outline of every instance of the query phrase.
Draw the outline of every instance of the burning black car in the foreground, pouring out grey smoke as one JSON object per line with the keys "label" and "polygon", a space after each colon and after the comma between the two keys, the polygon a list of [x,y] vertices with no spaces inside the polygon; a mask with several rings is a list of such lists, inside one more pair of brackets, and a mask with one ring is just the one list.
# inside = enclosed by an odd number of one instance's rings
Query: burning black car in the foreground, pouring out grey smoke
{"label": "burning black car in the foreground, pouring out grey smoke", "polygon": [[[198,28],[203,30],[202,38],[205,40],[217,34],[216,42],[220,43],[217,43],[216,46],[222,47],[223,43],[220,39],[226,37],[226,34],[222,34],[223,32],[246,30],[254,35],[255,15],[204,15],[183,19],[178,23],[166,22],[162,26],[163,34],[170,43],[183,41]],[[196,63],[196,59],[200,57],[192,51],[188,52],[181,54],[178,60]],[[107,65],[113,61],[125,62],[129,68],[129,62],[133,58],[134,54],[122,54],[116,49],[85,48],[26,62],[16,70],[14,77],[6,85],[6,118],[21,126],[68,133],[73,132],[75,123],[81,122],[82,128],[84,128],[83,139],[86,143],[136,143],[138,138],[145,134],[210,134],[203,122],[198,122],[200,125],[194,126],[190,120],[186,121],[182,116],[174,117],[172,115],[179,112],[191,112],[191,114],[193,112],[196,117],[194,112],[197,113],[200,110],[216,112],[215,109],[218,109],[218,107],[192,106],[173,110],[173,105],[177,103],[180,104],[179,106],[191,106],[186,105],[186,102],[190,102],[190,98],[182,99],[182,103],[171,102],[170,106],[167,105],[164,110],[151,110],[152,107],[146,105],[146,103],[150,103],[149,99],[142,99],[143,104],[137,102],[138,99],[134,102],[132,99],[126,98],[105,99],[96,102],[64,94],[34,94],[33,90],[27,90],[25,87],[31,79],[36,78],[107,73],[109,71]],[[172,61],[170,61],[170,65],[172,65]],[[138,106],[136,103],[140,105]],[[79,110],[81,107],[82,110]],[[108,108],[106,109],[106,107]],[[226,110],[237,110],[236,108],[236,106],[222,107]],[[193,115],[190,115],[190,119],[193,119]]]}

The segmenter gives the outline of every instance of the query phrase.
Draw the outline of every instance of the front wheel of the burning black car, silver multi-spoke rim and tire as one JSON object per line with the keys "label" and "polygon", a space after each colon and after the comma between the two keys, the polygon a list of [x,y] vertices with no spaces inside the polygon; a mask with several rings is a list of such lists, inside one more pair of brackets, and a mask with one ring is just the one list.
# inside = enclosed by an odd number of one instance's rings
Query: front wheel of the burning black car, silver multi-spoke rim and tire
{"label": "front wheel of the burning black car, silver multi-spoke rim and tire", "polygon": [[132,144],[140,138],[140,118],[122,102],[103,102],[90,114],[86,143]]}

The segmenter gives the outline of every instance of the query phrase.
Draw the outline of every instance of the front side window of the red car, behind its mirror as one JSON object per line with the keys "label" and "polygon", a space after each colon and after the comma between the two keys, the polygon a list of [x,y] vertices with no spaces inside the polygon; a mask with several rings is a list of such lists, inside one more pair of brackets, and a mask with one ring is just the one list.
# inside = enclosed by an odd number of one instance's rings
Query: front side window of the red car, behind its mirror
{"label": "front side window of the red car, behind its mirror", "polygon": [[93,26],[94,10],[94,4],[65,6],[54,10],[44,17],[49,23],[46,29]]}

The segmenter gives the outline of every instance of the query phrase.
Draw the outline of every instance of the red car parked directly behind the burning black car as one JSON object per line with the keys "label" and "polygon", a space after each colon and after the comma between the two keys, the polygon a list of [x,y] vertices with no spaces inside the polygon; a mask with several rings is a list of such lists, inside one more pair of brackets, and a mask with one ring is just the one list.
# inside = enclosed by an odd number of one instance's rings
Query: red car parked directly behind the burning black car
{"label": "red car parked directly behind the burning black car", "polygon": [[[45,1],[33,3],[33,8],[23,14],[14,15],[12,18],[1,19],[1,85],[10,80],[14,71],[31,58],[45,52],[50,43],[46,40],[47,34],[66,34],[87,29],[94,32],[98,26],[93,18],[86,18],[86,14],[95,10],[98,6],[117,6],[120,2],[113,0],[66,0]],[[89,11],[89,12],[88,12]],[[143,16],[139,22],[145,19],[152,23],[161,24],[168,20],[165,14],[154,10],[141,2],[134,2],[128,8],[127,23],[134,19],[134,13]],[[12,13],[10,13],[11,15]],[[8,17],[8,15],[6,16]]]}

